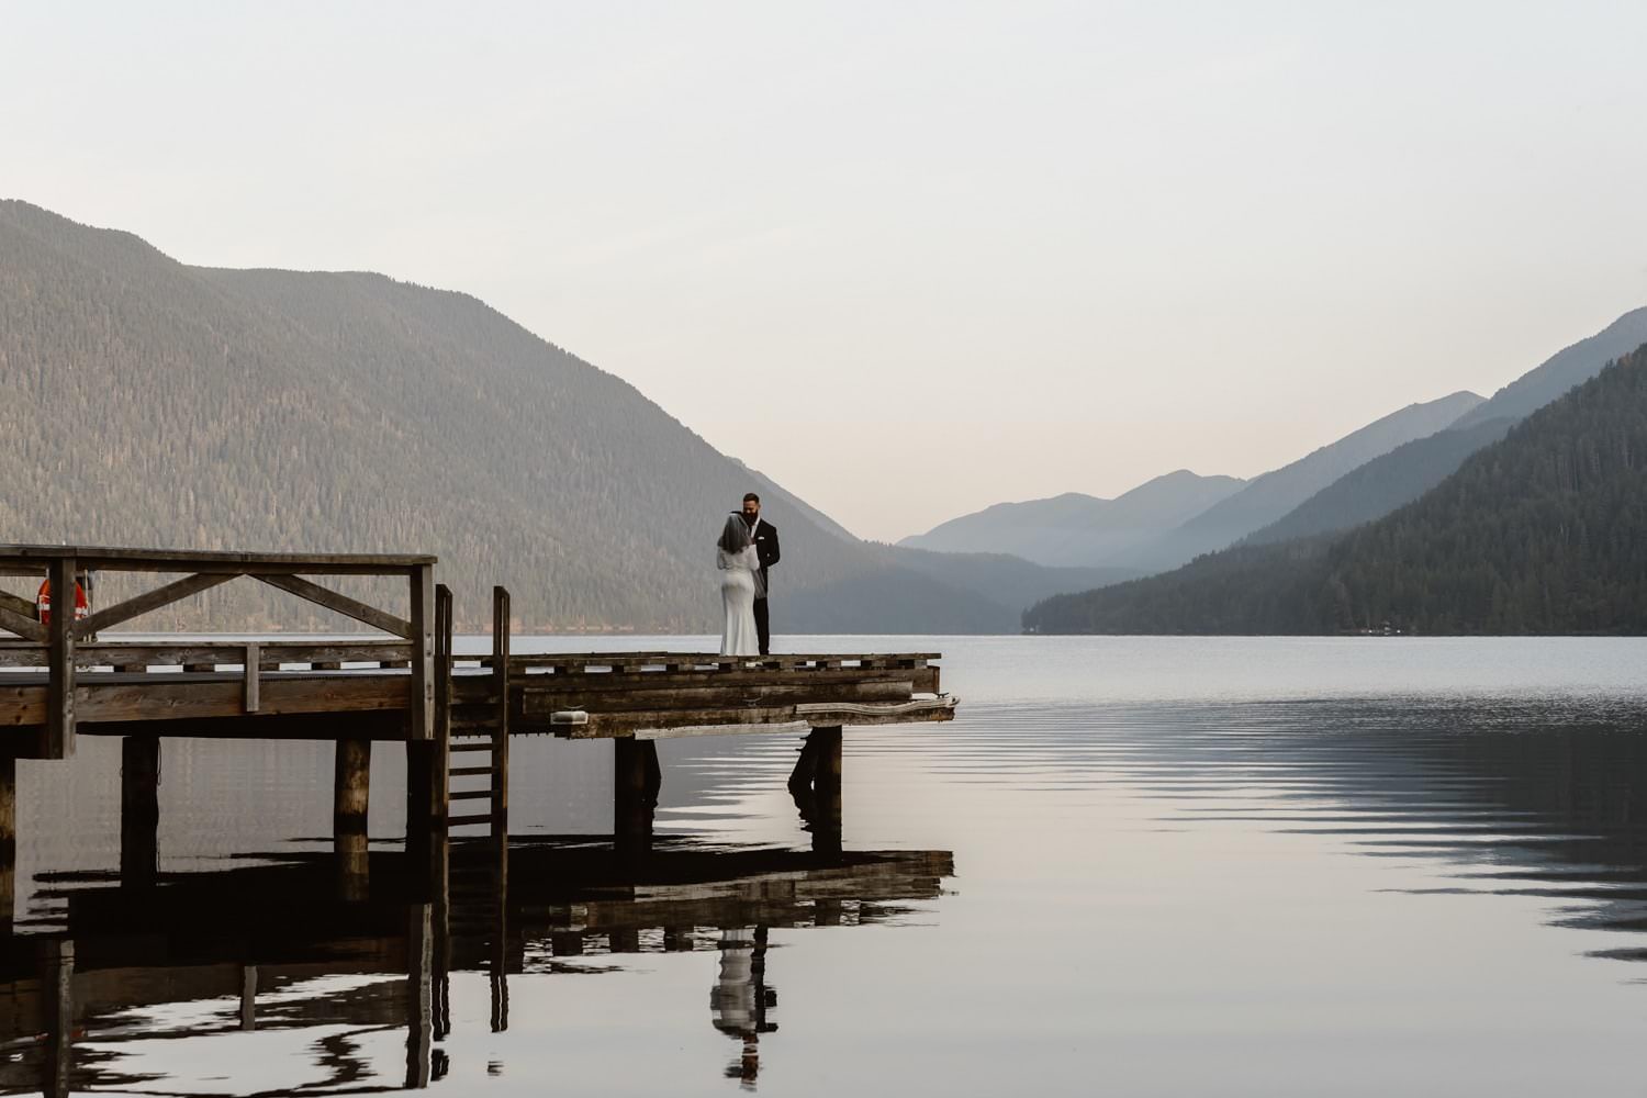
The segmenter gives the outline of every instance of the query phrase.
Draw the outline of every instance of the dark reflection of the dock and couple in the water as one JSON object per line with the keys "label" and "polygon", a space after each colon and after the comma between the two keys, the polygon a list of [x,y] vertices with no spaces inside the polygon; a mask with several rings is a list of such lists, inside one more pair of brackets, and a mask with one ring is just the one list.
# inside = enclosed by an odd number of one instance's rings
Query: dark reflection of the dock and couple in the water
{"label": "dark reflection of the dock and couple in the water", "polygon": [[[759,1040],[777,1029],[768,930],[883,922],[935,897],[954,872],[947,851],[708,851],[660,840],[636,859],[609,840],[572,836],[517,840],[506,894],[486,844],[455,844],[450,891],[433,894],[405,854],[374,853],[359,897],[359,874],[341,856],[249,858],[268,864],[161,874],[145,887],[122,887],[119,874],[41,874],[36,896],[56,900],[64,914],[53,922],[66,927],[20,927],[5,942],[0,1091],[420,1088],[453,1067],[455,973],[488,975],[491,1029],[502,1031],[511,978],[675,951],[703,955],[705,1022],[736,1042],[726,1075],[753,1083]],[[292,1031],[310,1054],[239,1065],[229,1054],[221,1072],[198,1073],[224,1055],[203,1042],[252,1031]],[[390,1035],[404,1042],[394,1065]],[[184,1062],[193,1070],[180,1072]],[[183,1085],[183,1075],[194,1078]]]}

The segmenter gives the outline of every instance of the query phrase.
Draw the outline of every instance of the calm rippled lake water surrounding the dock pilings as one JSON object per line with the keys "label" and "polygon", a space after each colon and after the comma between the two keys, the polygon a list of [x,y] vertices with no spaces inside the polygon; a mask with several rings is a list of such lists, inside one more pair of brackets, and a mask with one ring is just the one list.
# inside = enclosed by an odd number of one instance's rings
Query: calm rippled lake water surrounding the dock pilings
{"label": "calm rippled lake water surrounding the dock pilings", "polygon": [[41,1088],[68,935],[100,1093],[1647,1088],[1647,642],[787,642],[899,649],[962,706],[847,731],[840,858],[794,737],[664,741],[644,868],[578,838],[611,746],[517,739],[507,976],[455,950],[427,1045],[397,751],[348,902],[329,744],[165,741],[161,881],[125,891],[119,744],[25,761],[0,1083]]}

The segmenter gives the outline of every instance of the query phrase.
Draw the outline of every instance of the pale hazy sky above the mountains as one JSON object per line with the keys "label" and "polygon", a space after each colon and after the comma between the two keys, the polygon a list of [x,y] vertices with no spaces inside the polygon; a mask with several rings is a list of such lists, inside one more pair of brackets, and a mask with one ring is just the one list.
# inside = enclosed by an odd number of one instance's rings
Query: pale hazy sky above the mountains
{"label": "pale hazy sky above the mountains", "polygon": [[0,196],[474,293],[873,538],[1253,476],[1647,303],[1640,0],[0,3]]}

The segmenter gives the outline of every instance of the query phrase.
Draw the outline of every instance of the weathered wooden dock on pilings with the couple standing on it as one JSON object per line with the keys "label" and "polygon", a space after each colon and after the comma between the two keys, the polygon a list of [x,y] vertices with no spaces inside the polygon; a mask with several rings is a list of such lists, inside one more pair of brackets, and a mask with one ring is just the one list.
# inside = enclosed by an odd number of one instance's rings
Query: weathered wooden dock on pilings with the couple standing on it
{"label": "weathered wooden dock on pilings with the couple standing on it", "polygon": [[[814,844],[838,849],[842,729],[947,721],[937,654],[514,654],[509,594],[492,593],[488,654],[453,650],[451,593],[422,555],[293,555],[0,545],[0,576],[72,591],[87,573],[175,575],[76,621],[0,591],[0,859],[15,840],[20,757],[68,761],[79,736],[122,744],[122,864],[158,858],[161,737],[336,742],[333,828],[366,864],[374,742],[407,752],[408,848],[445,854],[453,828],[507,843],[509,739],[613,741],[613,835],[644,853],[662,774],[656,739],[710,733],[805,736],[791,792]],[[334,576],[387,578],[404,606],[362,603]],[[249,579],[343,614],[372,635],[343,640],[102,639],[143,614]],[[71,606],[68,599],[58,599]],[[13,639],[3,639],[10,634]],[[504,864],[504,859],[499,859]],[[0,904],[7,897],[0,897]],[[8,907],[8,904],[5,904]]]}

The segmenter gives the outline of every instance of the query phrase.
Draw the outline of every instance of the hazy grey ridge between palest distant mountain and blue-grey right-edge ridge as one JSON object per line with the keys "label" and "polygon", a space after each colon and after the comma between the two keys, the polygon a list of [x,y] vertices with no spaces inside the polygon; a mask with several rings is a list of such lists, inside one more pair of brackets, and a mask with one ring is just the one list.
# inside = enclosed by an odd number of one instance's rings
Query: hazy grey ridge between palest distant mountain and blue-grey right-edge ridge
{"label": "hazy grey ridge between palest distant mountain and blue-grey right-edge ridge", "polygon": [[1291,464],[1253,477],[1239,492],[1112,563],[1163,571],[1232,545],[1281,519],[1351,469],[1454,423],[1481,400],[1476,393],[1458,392],[1407,405]]}

